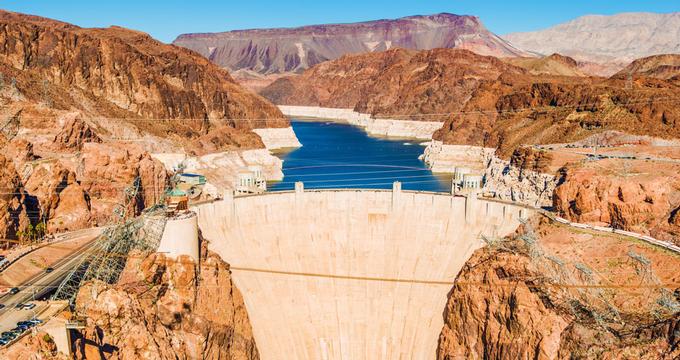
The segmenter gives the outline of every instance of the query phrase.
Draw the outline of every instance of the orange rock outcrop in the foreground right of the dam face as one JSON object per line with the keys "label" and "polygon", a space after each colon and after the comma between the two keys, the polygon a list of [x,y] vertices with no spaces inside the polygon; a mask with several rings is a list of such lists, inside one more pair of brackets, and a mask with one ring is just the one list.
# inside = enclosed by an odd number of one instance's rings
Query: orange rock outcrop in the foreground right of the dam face
{"label": "orange rock outcrop in the foreground right of the dam face", "polygon": [[[582,244],[578,253],[583,258],[594,256],[596,249],[610,251],[610,255],[621,252],[612,251],[621,246],[612,239],[584,237],[545,223],[535,231],[525,227],[517,237],[477,250],[450,292],[437,358],[676,358],[680,351],[677,310],[659,309],[654,301],[657,296],[670,296],[669,301],[677,304],[677,298],[651,289],[644,293],[598,289],[598,284],[639,278],[636,265],[570,260],[566,256],[574,249],[567,245],[569,241]],[[592,241],[599,244],[588,244]],[[678,263],[677,257],[664,258],[660,251],[632,244],[629,249],[652,263]],[[625,251],[623,257],[628,258]],[[666,278],[672,276],[663,267],[657,269],[665,271]],[[600,273],[594,275],[594,271]]]}

